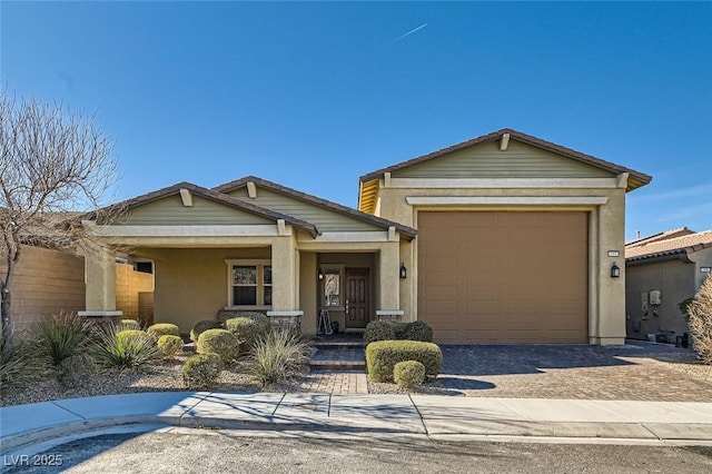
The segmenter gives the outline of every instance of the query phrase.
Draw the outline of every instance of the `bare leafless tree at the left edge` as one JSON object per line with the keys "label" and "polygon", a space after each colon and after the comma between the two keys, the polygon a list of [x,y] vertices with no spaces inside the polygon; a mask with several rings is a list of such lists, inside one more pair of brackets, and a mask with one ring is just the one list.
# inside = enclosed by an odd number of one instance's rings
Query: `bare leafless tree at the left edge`
{"label": "bare leafless tree at the left edge", "polygon": [[[112,142],[95,126],[93,116],[17,101],[0,91],[0,313],[6,343],[12,275],[22,246],[80,249],[92,233],[68,223],[101,208],[117,179]],[[109,209],[102,216],[108,221],[120,213]]]}

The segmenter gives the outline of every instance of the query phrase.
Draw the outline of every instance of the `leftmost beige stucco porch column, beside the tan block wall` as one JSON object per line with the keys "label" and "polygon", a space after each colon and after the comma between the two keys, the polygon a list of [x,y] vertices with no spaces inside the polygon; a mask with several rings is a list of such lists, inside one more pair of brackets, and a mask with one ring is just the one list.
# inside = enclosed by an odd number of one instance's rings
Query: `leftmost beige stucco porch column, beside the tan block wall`
{"label": "leftmost beige stucco porch column, beside the tan block wall", "polygon": [[116,309],[116,257],[105,247],[91,246],[85,255],[87,312]]}

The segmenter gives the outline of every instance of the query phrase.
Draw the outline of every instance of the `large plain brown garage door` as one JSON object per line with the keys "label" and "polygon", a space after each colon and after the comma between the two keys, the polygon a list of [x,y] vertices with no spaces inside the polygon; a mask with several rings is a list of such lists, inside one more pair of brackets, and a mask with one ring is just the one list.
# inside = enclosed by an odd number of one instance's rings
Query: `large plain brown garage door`
{"label": "large plain brown garage door", "polygon": [[586,213],[418,213],[436,342],[587,343]]}

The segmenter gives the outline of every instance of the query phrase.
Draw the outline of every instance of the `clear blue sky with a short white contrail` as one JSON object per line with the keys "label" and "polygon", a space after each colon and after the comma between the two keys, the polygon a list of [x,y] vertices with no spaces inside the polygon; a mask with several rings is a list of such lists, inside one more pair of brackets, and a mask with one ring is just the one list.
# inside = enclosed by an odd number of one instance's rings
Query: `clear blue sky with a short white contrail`
{"label": "clear blue sky with a short white contrail", "polygon": [[257,175],[355,206],[358,176],[511,127],[652,175],[627,239],[712,228],[709,2],[2,1],[0,21],[4,87],[96,112],[117,198]]}

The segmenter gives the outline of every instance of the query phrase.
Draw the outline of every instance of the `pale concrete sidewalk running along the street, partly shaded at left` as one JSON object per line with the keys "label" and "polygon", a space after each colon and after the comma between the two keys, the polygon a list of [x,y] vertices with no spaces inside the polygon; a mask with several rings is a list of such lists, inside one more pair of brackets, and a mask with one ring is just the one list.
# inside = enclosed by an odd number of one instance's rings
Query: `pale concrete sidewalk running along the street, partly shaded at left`
{"label": "pale concrete sidewalk running along the street, partly shaded at left", "polygon": [[109,395],[0,408],[0,454],[132,424],[710,444],[712,403],[210,392]]}

